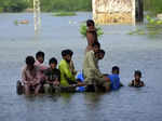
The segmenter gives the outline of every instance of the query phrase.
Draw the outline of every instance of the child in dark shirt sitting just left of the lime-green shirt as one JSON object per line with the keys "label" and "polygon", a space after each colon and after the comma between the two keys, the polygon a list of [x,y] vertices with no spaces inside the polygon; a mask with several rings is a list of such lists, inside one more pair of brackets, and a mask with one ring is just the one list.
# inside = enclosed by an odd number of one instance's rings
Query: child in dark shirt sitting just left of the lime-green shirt
{"label": "child in dark shirt sitting just left of the lime-green shirt", "polygon": [[50,68],[45,70],[45,80],[46,83],[51,86],[58,86],[60,82],[60,71],[56,68],[57,67],[57,59],[52,57],[49,60]]}

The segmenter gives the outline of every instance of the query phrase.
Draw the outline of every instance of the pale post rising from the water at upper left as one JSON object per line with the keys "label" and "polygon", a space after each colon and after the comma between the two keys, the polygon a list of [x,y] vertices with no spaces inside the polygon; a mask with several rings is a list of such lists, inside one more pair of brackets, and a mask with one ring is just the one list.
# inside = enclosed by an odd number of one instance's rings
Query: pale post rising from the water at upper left
{"label": "pale post rising from the water at upper left", "polygon": [[38,33],[41,28],[41,11],[40,0],[33,0],[33,19],[35,19],[35,32]]}

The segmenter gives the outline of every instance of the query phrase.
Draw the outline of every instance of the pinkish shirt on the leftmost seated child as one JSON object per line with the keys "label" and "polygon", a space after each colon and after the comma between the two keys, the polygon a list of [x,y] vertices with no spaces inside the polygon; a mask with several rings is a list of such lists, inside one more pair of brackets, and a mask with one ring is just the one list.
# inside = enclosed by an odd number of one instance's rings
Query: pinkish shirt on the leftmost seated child
{"label": "pinkish shirt on the leftmost seated child", "polygon": [[22,81],[23,83],[27,83],[27,82],[36,82],[36,83],[40,83],[41,77],[39,73],[39,69],[37,66],[33,66],[32,70],[29,70],[27,68],[27,66],[25,66],[23,68],[23,72],[22,72]]}

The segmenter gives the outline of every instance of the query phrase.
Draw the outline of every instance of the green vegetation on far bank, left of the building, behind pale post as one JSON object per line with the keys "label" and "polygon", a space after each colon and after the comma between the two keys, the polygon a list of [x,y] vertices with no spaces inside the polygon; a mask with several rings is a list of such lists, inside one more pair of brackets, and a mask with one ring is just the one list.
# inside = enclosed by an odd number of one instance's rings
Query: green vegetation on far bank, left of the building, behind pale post
{"label": "green vegetation on far bank, left of the building, behind pale post", "polygon": [[[91,11],[92,0],[40,0],[41,11]],[[33,0],[0,0],[0,12],[22,12],[33,8]]]}

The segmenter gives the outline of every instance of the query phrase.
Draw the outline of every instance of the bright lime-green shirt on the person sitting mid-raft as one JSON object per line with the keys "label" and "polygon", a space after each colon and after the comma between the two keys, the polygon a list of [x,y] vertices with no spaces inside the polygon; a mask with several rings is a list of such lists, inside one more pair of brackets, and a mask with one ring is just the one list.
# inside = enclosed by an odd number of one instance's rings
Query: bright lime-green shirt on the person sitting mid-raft
{"label": "bright lime-green shirt on the person sitting mid-raft", "polygon": [[70,71],[70,65],[65,59],[60,60],[58,69],[60,71],[62,86],[69,86],[69,84],[76,83],[75,75]]}

